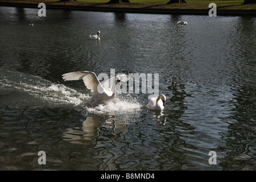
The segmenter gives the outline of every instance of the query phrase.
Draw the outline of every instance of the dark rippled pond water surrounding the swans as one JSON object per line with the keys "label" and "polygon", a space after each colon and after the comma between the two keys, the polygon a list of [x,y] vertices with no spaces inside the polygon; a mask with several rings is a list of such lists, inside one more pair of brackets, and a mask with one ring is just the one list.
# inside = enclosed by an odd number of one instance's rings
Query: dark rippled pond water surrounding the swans
{"label": "dark rippled pond water surrounding the swans", "polygon": [[[0,7],[1,170],[256,169],[255,17],[46,15]],[[158,74],[165,109],[142,90],[84,105],[82,80],[61,77],[110,69]]]}

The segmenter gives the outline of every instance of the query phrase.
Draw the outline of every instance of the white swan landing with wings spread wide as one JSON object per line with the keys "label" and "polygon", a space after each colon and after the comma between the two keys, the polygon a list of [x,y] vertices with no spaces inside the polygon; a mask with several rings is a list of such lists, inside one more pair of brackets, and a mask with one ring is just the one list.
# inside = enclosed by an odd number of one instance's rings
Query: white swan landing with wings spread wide
{"label": "white swan landing with wings spread wide", "polygon": [[90,89],[92,92],[92,97],[90,97],[89,100],[90,104],[104,104],[113,101],[115,98],[115,82],[121,84],[120,81],[127,81],[129,79],[129,76],[125,74],[117,75],[101,84],[94,72],[79,71],[65,73],[62,76],[65,81],[84,80],[86,88]]}

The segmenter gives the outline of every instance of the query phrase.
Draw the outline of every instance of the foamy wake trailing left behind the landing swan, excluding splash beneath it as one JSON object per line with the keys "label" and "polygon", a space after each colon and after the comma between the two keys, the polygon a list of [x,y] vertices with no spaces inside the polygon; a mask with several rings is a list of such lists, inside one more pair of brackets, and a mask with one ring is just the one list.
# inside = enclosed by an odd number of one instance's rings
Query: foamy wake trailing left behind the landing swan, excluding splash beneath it
{"label": "foamy wake trailing left behind the landing swan, excluding splash beneath it", "polygon": [[1,104],[15,106],[78,105],[89,98],[62,84],[41,77],[0,69]]}

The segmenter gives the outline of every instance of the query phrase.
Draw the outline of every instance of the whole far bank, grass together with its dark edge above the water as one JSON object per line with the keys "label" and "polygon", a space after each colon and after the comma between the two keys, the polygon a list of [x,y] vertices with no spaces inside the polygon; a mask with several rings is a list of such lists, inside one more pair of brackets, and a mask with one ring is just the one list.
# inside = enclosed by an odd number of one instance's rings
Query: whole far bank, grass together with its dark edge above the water
{"label": "whole far bank, grass together with its dark edge above the water", "polygon": [[256,3],[245,4],[243,0],[186,0],[187,3],[168,3],[169,0],[129,0],[130,3],[108,3],[110,0],[0,0],[0,6],[29,7],[38,9],[45,3],[48,9],[107,11],[150,14],[208,15],[217,6],[217,15],[256,15]]}

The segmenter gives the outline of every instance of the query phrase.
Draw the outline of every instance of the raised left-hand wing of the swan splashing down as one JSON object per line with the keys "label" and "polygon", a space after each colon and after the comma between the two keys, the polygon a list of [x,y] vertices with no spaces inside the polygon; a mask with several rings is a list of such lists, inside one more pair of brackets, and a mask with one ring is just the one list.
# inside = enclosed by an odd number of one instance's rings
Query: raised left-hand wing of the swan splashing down
{"label": "raised left-hand wing of the swan splashing down", "polygon": [[[100,84],[100,81],[98,80],[98,77],[94,72],[88,72],[88,71],[81,71],[81,72],[71,72],[71,73],[65,73],[62,75],[63,79],[65,81],[67,80],[84,80],[84,84],[86,88],[90,89],[92,93],[98,92],[97,88]],[[101,86],[101,84],[100,84]],[[101,86],[102,88],[102,86]]]}

